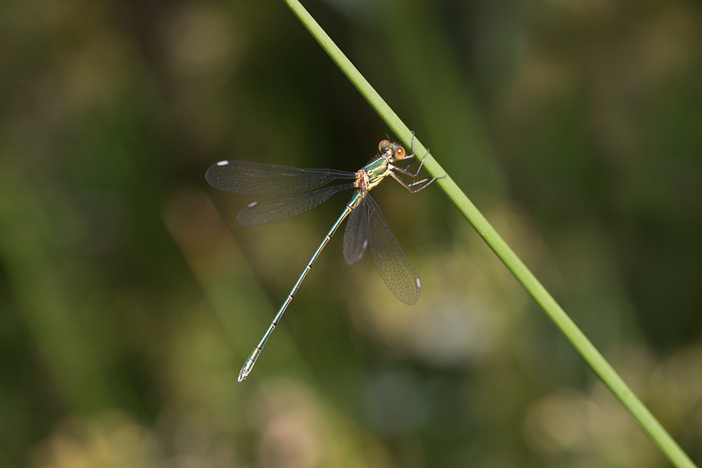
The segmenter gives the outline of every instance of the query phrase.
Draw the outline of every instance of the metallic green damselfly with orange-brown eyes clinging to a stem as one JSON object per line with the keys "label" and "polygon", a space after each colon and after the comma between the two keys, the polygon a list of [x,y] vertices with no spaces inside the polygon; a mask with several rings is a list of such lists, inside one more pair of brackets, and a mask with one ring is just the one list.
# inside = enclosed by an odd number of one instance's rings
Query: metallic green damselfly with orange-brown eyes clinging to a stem
{"label": "metallic green damselfly with orange-brown eyes clinging to a stem", "polygon": [[[381,141],[378,149],[380,154],[376,159],[373,159],[356,173],[334,171],[333,169],[298,169],[247,161],[219,161],[207,170],[207,181],[220,190],[234,194],[274,197],[249,203],[239,212],[237,221],[239,224],[247,226],[265,225],[270,222],[286,220],[318,206],[337,192],[348,189],[356,190],[351,200],[346,204],[343,213],[326,233],[324,240],[305,265],[298,281],[288,293],[258,345],[253,348],[253,352],[246,359],[246,363],[239,372],[239,382],[251,372],[263,345],[277,326],[290,301],[293,300],[300,283],[305,279],[305,275],[312,269],[314,260],[317,260],[319,253],[322,252],[326,243],[329,242],[331,236],[347,216],[349,220],[344,232],[344,258],[346,262],[349,265],[358,262],[370,245],[378,272],[392,293],[407,304],[414,304],[419,299],[422,288],[419,275],[390,231],[388,223],[383,218],[383,213],[380,213],[380,208],[371,198],[369,190],[376,187],[388,175],[413,193],[424,189],[437,178],[425,178],[408,184],[397,174],[402,173],[416,179],[422,168],[426,154],[415,173],[407,171],[409,165],[405,168],[393,165],[397,161],[410,159],[414,156],[414,137],[412,137],[412,154],[409,156],[406,155],[402,146],[388,140]],[[319,188],[338,179],[353,180],[353,182]]]}

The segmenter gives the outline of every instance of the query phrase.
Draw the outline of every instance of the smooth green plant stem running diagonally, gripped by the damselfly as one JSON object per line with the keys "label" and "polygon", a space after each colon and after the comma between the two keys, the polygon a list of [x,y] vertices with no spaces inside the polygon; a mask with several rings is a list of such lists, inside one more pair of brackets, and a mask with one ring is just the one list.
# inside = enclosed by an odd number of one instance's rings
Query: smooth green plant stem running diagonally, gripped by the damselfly
{"label": "smooth green plant stem running diagonally, gripped by the damselfly", "polygon": [[[380,98],[376,90],[371,87],[370,83],[366,81],[356,67],[346,58],[336,44],[333,43],[329,35],[317,24],[310,13],[307,13],[298,0],[284,1],[310,34],[312,34],[314,39],[317,40],[319,45],[324,48],[324,51],[329,54],[331,60],[336,63],[358,91],[366,98],[373,109],[378,112],[380,118],[388,124],[395,135],[402,140],[404,145],[409,146],[412,138],[409,128],[399,119],[395,112],[392,112],[388,104],[385,103],[383,98]],[[417,138],[414,140],[414,149],[417,154],[424,154],[426,152],[426,148]],[[432,176],[446,174],[431,154],[426,157],[424,167]],[[453,201],[458,210],[463,213],[465,219],[470,222],[470,225],[480,234],[482,239],[494,251],[498,258],[500,258],[510,272],[512,272],[522,287],[527,290],[527,293],[529,293],[559,330],[561,330],[561,333],[567,337],[571,345],[573,345],[595,374],[604,382],[604,385],[607,385],[614,396],[621,401],[623,406],[631,413],[642,429],[644,429],[644,432],[656,443],[658,448],[661,449],[661,452],[668,457],[668,460],[670,460],[675,467],[695,467],[692,460],[690,460],[682,448],[677,445],[670,434],[663,429],[663,426],[656,420],[656,417],[651,414],[648,408],[646,408],[631,389],[627,387],[614,368],[609,365],[602,354],[600,354],[590,340],[585,337],[580,328],[576,326],[538,279],[536,279],[536,276],[524,265],[524,262],[519,260],[519,257],[517,257],[507,243],[503,241],[501,236],[497,234],[495,229],[468,199],[468,196],[465,196],[463,191],[458,188],[456,182],[453,182],[451,177],[446,175],[445,178],[437,180],[436,183],[444,190],[446,196]]]}

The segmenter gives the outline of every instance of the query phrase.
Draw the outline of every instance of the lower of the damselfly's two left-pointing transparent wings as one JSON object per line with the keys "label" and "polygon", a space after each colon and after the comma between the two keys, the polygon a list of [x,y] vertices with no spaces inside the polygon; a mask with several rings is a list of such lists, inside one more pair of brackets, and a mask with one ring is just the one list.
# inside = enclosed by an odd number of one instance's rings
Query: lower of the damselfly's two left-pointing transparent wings
{"label": "lower of the damselfly's two left-pointing transparent wings", "polygon": [[353,187],[353,184],[334,185],[333,187],[325,187],[313,192],[254,201],[239,211],[237,221],[240,225],[256,226],[286,220],[293,216],[301,215],[315,206],[319,206],[337,192],[352,189]]}

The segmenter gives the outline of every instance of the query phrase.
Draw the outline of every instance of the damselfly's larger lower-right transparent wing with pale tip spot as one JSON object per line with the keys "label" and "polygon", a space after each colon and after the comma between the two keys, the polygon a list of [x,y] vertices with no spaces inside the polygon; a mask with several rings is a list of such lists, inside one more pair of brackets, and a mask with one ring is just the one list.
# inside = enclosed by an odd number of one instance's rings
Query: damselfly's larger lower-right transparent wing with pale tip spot
{"label": "damselfly's larger lower-right transparent wing with pale tip spot", "polygon": [[[422,283],[417,270],[390,231],[388,223],[380,213],[378,204],[366,194],[364,204],[368,207],[368,232],[371,239],[373,261],[383,281],[402,302],[414,304],[419,299]],[[352,212],[353,213],[353,212]]]}

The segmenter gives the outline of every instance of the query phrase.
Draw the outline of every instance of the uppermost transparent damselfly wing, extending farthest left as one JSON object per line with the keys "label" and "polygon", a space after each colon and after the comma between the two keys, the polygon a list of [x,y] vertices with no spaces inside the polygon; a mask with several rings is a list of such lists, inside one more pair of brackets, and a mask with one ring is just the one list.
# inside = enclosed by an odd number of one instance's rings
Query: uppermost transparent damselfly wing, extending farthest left
{"label": "uppermost transparent damselfly wing, extending farthest left", "polygon": [[257,196],[299,194],[335,179],[355,179],[355,173],[333,169],[298,169],[290,166],[219,161],[208,168],[207,182],[225,192]]}

